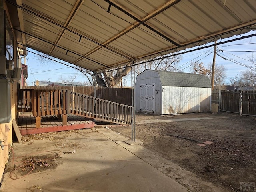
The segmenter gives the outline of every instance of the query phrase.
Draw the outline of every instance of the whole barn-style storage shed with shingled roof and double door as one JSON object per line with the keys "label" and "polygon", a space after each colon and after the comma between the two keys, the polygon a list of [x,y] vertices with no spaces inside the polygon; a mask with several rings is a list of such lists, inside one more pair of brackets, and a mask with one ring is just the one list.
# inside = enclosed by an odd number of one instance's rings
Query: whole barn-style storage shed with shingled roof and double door
{"label": "whole barn-style storage shed with shingled roof and double door", "polygon": [[145,70],[135,84],[136,110],[180,114],[211,110],[211,83],[204,75]]}

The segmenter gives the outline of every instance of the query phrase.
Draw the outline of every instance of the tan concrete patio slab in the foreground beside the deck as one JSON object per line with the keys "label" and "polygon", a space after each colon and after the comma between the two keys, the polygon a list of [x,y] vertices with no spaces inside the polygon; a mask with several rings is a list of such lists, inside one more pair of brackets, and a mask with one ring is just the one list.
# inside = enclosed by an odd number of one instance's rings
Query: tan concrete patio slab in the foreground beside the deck
{"label": "tan concrete patio slab in the foreground beside the deck", "polygon": [[[152,156],[143,146],[124,141],[127,138],[122,135],[97,128],[41,134],[29,143],[14,144],[14,156],[10,156],[1,192],[187,192],[184,186],[138,157]],[[14,164],[18,167],[24,156],[53,152],[60,154],[55,160],[56,168],[34,170],[24,177],[17,170],[16,176],[22,178],[10,178]]]}

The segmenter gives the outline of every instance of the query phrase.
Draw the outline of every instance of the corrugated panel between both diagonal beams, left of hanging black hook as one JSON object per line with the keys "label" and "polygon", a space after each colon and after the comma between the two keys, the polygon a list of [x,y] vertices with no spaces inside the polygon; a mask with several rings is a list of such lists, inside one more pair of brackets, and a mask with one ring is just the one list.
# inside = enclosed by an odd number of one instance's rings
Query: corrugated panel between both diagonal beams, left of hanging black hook
{"label": "corrugated panel between both diagonal beams, left of hanging black hook", "polygon": [[[120,32],[120,30],[128,27],[130,25],[129,22],[134,22],[134,20],[131,20],[128,16],[122,19],[122,17],[119,18],[115,16],[114,14],[116,13],[110,14],[106,11],[107,9],[108,6],[106,6],[106,2],[104,1],[96,3],[86,1],[74,17],[70,28],[103,43]],[[111,12],[114,11],[113,9],[115,8],[112,8]],[[116,10],[116,12],[120,14],[120,11]],[[81,20],[83,20],[83,22],[81,22]],[[125,20],[128,20],[128,22],[125,22]]]}

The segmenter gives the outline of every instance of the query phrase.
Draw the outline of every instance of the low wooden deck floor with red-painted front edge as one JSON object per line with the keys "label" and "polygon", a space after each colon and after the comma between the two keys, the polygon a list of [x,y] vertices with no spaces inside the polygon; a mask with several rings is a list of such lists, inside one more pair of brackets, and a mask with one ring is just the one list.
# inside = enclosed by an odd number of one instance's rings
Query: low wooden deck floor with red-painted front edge
{"label": "low wooden deck floor with red-painted front edge", "polygon": [[65,130],[75,130],[82,128],[92,128],[94,122],[88,118],[68,114],[67,125],[63,125],[62,119],[55,115],[41,116],[41,126],[36,128],[36,117],[32,113],[22,114],[18,118],[18,128],[22,135],[56,132]]}

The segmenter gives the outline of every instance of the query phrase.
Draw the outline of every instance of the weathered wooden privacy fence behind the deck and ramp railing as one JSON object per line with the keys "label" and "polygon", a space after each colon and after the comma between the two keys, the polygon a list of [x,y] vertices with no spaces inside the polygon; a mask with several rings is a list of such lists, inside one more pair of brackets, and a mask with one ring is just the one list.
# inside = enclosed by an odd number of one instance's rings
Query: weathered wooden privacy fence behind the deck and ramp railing
{"label": "weathered wooden privacy fence behind the deck and ramp railing", "polygon": [[[33,90],[70,90],[76,93],[94,96],[93,86],[22,86],[22,89]],[[95,87],[95,96],[100,99],[132,106],[131,88]]]}

